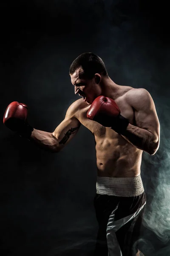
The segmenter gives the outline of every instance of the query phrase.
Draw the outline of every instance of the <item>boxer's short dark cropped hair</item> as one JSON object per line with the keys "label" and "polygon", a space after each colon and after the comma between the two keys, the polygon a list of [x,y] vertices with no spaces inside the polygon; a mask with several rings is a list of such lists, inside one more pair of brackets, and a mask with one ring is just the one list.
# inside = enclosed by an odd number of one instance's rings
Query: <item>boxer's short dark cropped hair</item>
{"label": "boxer's short dark cropped hair", "polygon": [[92,79],[96,73],[108,76],[104,62],[92,52],[79,55],[71,64],[69,73],[72,75],[79,67],[82,68],[82,75],[88,79]]}

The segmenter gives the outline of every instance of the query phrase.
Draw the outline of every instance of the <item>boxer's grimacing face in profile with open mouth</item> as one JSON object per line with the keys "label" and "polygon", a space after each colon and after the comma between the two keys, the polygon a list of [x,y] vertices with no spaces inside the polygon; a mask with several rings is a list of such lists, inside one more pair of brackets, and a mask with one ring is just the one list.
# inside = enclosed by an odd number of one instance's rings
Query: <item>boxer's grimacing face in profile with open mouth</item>
{"label": "boxer's grimacing face in profile with open mouth", "polygon": [[99,83],[96,82],[96,77],[87,79],[82,76],[82,70],[77,69],[71,76],[71,83],[74,85],[75,94],[82,96],[83,101],[88,105],[101,95],[101,88]]}

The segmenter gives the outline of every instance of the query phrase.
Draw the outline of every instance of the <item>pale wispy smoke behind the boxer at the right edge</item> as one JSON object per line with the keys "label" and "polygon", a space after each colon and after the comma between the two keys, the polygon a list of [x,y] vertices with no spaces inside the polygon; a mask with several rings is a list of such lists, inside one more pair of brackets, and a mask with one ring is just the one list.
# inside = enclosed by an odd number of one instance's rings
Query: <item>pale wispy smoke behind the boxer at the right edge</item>
{"label": "pale wispy smoke behind the boxer at the right edge", "polygon": [[153,157],[148,154],[143,157],[143,180],[148,195],[144,226],[153,231],[163,244],[170,240],[170,135],[166,124],[168,110],[167,108],[160,119],[159,150]]}

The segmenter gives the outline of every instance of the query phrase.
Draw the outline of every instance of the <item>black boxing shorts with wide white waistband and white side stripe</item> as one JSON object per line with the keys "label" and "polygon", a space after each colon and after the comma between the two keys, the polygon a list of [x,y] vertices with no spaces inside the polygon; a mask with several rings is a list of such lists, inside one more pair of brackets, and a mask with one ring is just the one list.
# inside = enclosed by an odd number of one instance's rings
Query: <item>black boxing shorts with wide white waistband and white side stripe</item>
{"label": "black boxing shorts with wide white waistband and white side stripe", "polygon": [[94,207],[99,223],[95,256],[134,256],[146,195],[141,176],[97,177]]}

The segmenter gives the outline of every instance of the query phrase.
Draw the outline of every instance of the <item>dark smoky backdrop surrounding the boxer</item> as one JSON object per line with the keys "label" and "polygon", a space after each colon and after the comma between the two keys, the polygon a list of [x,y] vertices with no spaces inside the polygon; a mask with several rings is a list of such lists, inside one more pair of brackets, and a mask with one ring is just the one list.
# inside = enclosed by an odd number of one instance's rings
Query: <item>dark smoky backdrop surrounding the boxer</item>
{"label": "dark smoky backdrop surrounding the boxer", "polygon": [[143,154],[147,208],[140,249],[170,255],[169,9],[165,1],[27,0],[0,4],[0,255],[93,255],[97,222],[94,138],[81,127],[58,154],[3,125],[12,101],[34,128],[54,131],[77,96],[72,61],[94,52],[117,84],[147,89],[161,124],[159,151]]}

